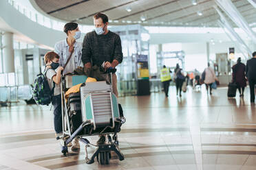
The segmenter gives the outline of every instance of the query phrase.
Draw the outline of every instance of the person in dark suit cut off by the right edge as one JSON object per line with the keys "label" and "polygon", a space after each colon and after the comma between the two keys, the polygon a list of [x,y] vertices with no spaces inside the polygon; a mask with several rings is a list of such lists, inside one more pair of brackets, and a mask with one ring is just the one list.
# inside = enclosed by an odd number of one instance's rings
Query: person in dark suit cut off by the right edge
{"label": "person in dark suit cut off by the right edge", "polygon": [[253,52],[253,58],[247,60],[246,77],[250,86],[250,102],[255,103],[255,84],[256,84],[256,51]]}

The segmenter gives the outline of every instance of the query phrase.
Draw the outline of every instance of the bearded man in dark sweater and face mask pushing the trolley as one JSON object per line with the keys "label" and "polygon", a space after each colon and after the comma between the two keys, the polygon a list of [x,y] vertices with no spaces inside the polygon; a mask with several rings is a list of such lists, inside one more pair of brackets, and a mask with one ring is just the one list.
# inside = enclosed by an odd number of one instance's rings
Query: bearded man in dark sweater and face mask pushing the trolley
{"label": "bearded man in dark sweater and face mask pushing the trolley", "polygon": [[[92,67],[104,66],[115,68],[122,62],[122,46],[120,36],[107,29],[108,18],[105,14],[98,13],[94,15],[95,31],[85,35],[83,40],[82,61],[85,65],[85,71]],[[100,72],[103,76],[104,73]],[[118,97],[116,74],[112,76],[113,93]],[[97,145],[105,143],[105,136],[100,136]]]}

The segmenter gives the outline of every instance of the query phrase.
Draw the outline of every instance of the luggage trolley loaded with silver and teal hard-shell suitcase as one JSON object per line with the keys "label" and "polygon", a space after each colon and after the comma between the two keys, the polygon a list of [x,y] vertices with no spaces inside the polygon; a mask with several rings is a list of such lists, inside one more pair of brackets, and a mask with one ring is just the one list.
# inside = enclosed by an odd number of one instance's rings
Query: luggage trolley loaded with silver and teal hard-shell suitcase
{"label": "luggage trolley loaded with silver and teal hard-shell suitcase", "polygon": [[[85,160],[87,164],[92,164],[96,157],[100,165],[109,164],[111,158],[110,151],[114,151],[119,160],[124,160],[119,147],[118,136],[120,127],[124,120],[120,119],[120,112],[116,95],[114,95],[111,80],[114,69],[109,69],[109,81],[87,82],[82,84],[80,93],[73,93],[67,102],[65,92],[74,82],[81,79],[85,82],[85,77],[81,75],[65,75],[61,79],[61,106],[63,120],[63,136],[61,145],[63,155],[67,154],[67,144],[75,137],[85,144]],[[81,76],[81,77],[78,77]],[[78,83],[77,83],[78,84]],[[81,99],[79,99],[79,97]],[[105,135],[107,142],[103,145],[90,143],[86,136]],[[87,147],[95,149],[91,158],[88,157]]]}

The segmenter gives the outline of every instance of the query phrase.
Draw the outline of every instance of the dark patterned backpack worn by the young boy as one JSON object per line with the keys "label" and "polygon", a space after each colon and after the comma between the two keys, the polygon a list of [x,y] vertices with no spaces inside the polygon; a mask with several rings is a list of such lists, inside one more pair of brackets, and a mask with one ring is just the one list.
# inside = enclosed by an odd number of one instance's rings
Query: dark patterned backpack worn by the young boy
{"label": "dark patterned backpack worn by the young boy", "polygon": [[44,73],[40,73],[39,75],[36,75],[36,79],[34,80],[32,95],[33,95],[34,101],[36,101],[36,104],[48,106],[52,102],[55,83],[51,90],[48,84],[47,78],[45,77],[46,72],[47,70],[44,71]]}

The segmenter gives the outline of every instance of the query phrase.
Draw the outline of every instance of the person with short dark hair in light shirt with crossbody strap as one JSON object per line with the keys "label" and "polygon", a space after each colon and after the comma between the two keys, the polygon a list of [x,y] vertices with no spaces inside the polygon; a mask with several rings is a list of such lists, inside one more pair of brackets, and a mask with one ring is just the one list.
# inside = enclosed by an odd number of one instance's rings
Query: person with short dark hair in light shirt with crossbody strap
{"label": "person with short dark hair in light shirt with crossbody strap", "polygon": [[[63,70],[63,74],[65,75],[67,73],[72,73],[78,66],[81,66],[83,44],[82,42],[76,42],[76,40],[81,37],[81,32],[77,23],[66,23],[63,31],[67,34],[67,38],[56,42],[54,51],[60,56],[59,64],[61,66],[65,66],[68,58],[72,55],[70,61]],[[72,141],[71,149],[73,151],[80,149],[78,138],[74,138]]]}

